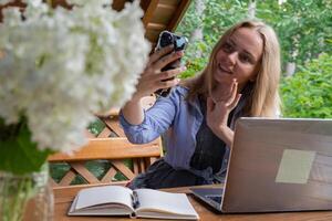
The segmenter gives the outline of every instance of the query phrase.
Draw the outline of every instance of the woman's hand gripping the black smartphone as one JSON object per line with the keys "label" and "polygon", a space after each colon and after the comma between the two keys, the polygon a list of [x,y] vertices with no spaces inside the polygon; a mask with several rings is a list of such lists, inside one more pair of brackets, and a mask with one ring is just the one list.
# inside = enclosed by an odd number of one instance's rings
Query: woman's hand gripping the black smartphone
{"label": "woman's hand gripping the black smartphone", "polygon": [[[133,98],[139,99],[144,96],[151,95],[159,88],[168,88],[179,83],[179,80],[176,78],[176,75],[184,72],[186,70],[185,66],[162,71],[162,69],[167,64],[184,55],[183,51],[172,51],[173,45],[163,48],[151,55],[144,72],[141,74],[141,78],[138,80],[138,84],[136,86],[136,93],[134,94]],[[174,78],[169,80],[172,77]]]}

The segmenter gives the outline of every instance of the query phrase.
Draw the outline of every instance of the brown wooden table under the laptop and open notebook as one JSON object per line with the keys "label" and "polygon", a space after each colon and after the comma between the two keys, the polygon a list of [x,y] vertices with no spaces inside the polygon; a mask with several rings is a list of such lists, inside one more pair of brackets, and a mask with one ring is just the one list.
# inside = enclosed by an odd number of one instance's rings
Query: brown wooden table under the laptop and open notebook
{"label": "brown wooden table under the laptop and open notebook", "polygon": [[[90,186],[91,187],[91,186]],[[214,186],[220,187],[220,186]],[[84,220],[95,220],[95,221],[108,221],[108,220],[145,220],[149,221],[152,219],[129,219],[122,217],[68,217],[68,209],[77,193],[82,188],[86,186],[72,186],[72,187],[62,187],[54,189],[55,198],[55,211],[54,211],[54,221],[84,221]],[[196,211],[199,213],[200,220],[206,221],[332,221],[332,211],[320,211],[320,212],[284,212],[284,213],[258,213],[258,214],[218,214],[211,210],[208,206],[197,201],[190,194],[190,190],[185,188],[174,188],[165,189],[170,192],[186,192],[188,198],[193,203]]]}

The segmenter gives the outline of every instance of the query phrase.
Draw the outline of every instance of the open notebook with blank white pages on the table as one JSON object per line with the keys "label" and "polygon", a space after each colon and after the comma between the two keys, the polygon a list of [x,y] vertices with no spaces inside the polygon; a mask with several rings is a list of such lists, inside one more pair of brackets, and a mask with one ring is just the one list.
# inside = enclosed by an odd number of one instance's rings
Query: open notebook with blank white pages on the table
{"label": "open notebook with blank white pages on the table", "polygon": [[68,214],[199,219],[185,193],[169,193],[153,189],[133,191],[121,186],[103,186],[81,190]]}

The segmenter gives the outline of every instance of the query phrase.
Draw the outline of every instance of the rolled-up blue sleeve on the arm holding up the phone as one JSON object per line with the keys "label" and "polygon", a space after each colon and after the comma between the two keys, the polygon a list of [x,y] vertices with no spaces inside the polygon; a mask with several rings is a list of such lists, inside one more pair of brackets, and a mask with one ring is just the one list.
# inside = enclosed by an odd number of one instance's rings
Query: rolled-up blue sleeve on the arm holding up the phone
{"label": "rolled-up blue sleeve on the arm holding up the phone", "polygon": [[120,123],[128,140],[134,144],[146,144],[164,134],[174,122],[179,99],[177,88],[173,88],[169,96],[159,97],[153,107],[144,112],[144,120],[141,125],[129,124],[121,112]]}

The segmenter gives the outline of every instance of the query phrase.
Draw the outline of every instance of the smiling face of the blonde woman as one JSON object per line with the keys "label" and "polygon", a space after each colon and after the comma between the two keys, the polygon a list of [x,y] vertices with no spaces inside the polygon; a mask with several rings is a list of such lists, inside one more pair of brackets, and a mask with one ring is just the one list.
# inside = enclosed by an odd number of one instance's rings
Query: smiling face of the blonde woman
{"label": "smiling face of the blonde woman", "polygon": [[257,31],[249,28],[236,30],[216,54],[214,78],[220,84],[236,78],[241,90],[248,81],[256,80],[262,50],[263,42]]}

